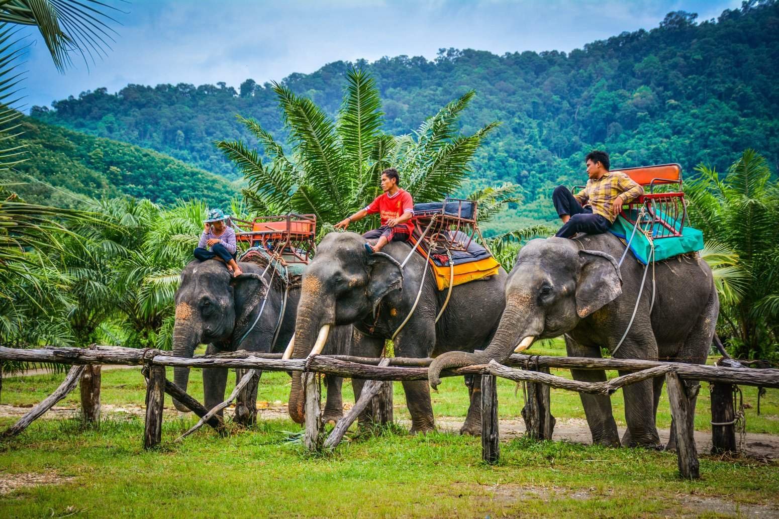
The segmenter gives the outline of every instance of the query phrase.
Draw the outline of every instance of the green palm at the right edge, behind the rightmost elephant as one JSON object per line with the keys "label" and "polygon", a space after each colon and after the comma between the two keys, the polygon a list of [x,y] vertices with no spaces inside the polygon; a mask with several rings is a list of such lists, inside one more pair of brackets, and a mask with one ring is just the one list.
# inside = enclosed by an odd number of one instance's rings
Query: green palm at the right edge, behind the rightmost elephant
{"label": "green palm at the right edge, behind the rightmost elephant", "polygon": [[[720,257],[736,256],[720,267],[742,272],[745,279],[720,284],[721,327],[736,355],[775,355],[779,342],[779,185],[755,150],[720,178],[701,164],[700,178],[687,184],[690,221],[703,231],[707,248]],[[704,251],[705,252],[705,251]],[[726,274],[728,272],[726,271]]]}

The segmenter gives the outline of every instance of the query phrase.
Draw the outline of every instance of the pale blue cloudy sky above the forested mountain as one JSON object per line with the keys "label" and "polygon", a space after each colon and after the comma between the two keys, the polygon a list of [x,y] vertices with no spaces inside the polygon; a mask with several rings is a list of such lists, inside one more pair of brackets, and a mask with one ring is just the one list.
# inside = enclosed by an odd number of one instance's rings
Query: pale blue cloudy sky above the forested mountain
{"label": "pale blue cloudy sky above the forested mountain", "polygon": [[719,16],[740,0],[479,0],[464,2],[259,2],[135,0],[118,5],[112,51],[89,67],[74,56],[65,75],[34,30],[25,68],[26,106],[128,83],[280,80],[338,60],[423,55],[439,48],[570,51],[624,30],[652,28],[675,10]]}

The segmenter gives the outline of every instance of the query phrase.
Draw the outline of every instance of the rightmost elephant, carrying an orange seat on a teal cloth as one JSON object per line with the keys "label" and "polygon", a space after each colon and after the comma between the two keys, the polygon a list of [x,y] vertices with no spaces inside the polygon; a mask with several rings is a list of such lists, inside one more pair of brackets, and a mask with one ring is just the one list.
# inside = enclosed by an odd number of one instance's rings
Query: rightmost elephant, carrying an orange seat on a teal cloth
{"label": "rightmost elephant, carrying an orange seat on a teal cloth", "polygon": [[[615,358],[703,364],[719,312],[707,263],[700,256],[676,256],[643,267],[628,255],[620,266],[615,258],[624,251],[611,233],[527,242],[509,273],[506,309],[488,348],[441,355],[430,366],[428,381],[435,387],[442,369],[503,362],[515,347],[560,335],[572,356],[600,357],[601,348],[608,348]],[[587,382],[606,380],[602,370],[572,369],[572,374]],[[627,431],[621,443],[609,397],[580,394],[593,443],[659,448],[655,415],[663,382],[658,377],[623,388]],[[687,383],[693,409],[698,389],[698,383]],[[674,430],[671,424],[668,449],[675,448]]]}

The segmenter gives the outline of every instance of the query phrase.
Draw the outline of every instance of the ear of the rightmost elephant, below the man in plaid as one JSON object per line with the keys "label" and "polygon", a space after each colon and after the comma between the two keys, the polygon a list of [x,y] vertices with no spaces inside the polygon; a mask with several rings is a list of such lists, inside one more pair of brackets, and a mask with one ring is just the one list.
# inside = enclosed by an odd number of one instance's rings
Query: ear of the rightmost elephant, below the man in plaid
{"label": "ear of the rightmost elephant, below the man in plaid", "polygon": [[580,250],[579,261],[576,313],[583,319],[622,294],[622,277],[616,260],[606,252]]}

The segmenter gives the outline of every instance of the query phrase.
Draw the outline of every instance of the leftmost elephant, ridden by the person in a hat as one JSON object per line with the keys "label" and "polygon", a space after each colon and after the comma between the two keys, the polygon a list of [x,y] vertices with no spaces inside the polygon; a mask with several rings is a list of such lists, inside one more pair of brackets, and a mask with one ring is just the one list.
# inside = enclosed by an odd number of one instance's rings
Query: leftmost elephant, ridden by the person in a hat
{"label": "leftmost elephant, ridden by the person in a hat", "polygon": [[[175,324],[173,331],[173,355],[191,358],[198,344],[208,344],[207,354],[222,351],[258,351],[270,353],[273,335],[277,328],[284,292],[269,286],[270,273],[263,277],[263,267],[257,263],[238,263],[244,274],[231,277],[224,263],[217,260],[190,262],[181,274],[181,285],[175,293]],[[267,292],[267,301],[263,295]],[[274,352],[282,351],[294,332],[295,312],[300,298],[300,288],[291,288],[287,294]],[[264,305],[264,308],[263,308]],[[262,315],[257,320],[257,314]],[[257,322],[255,323],[255,321]],[[252,324],[254,327],[252,328]],[[247,332],[249,332],[247,334]],[[327,351],[343,354],[348,351],[351,327],[336,330],[327,344]],[[186,390],[189,368],[174,368],[174,383]],[[341,379],[327,376],[326,419],[337,421],[343,415],[340,387]],[[227,385],[227,368],[203,369],[203,394],[206,408],[213,408],[224,401]],[[256,399],[256,389],[251,397]],[[179,411],[189,411],[174,399]],[[252,405],[252,410],[254,406]],[[249,413],[241,421],[253,422],[253,411],[236,407],[236,417]]]}

